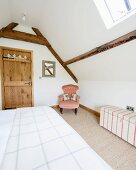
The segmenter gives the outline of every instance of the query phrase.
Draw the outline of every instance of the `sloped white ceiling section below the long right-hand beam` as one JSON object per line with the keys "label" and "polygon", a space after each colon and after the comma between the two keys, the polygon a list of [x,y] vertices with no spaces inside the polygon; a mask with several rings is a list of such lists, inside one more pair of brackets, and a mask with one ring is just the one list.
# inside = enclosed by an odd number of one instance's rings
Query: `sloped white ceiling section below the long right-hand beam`
{"label": "sloped white ceiling section below the long right-hand beam", "polygon": [[82,80],[136,81],[136,40],[123,44],[69,67]]}

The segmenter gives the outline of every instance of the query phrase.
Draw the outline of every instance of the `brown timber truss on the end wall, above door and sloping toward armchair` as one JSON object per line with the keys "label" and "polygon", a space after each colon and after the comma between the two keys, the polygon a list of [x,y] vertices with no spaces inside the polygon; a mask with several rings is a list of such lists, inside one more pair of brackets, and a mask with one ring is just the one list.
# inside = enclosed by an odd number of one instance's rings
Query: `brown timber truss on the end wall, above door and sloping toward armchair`
{"label": "brown timber truss on the end wall, above door and sloping toward armchair", "polygon": [[2,28],[0,30],[0,38],[26,41],[46,46],[49,49],[49,51],[54,55],[54,57],[58,60],[58,62],[63,66],[63,68],[68,72],[68,74],[74,79],[74,81],[78,83],[78,80],[75,77],[75,75],[66,65],[64,65],[64,61],[60,58],[60,56],[53,49],[48,40],[42,35],[42,33],[37,28],[32,28],[33,31],[36,33],[36,35],[33,35],[13,30],[13,28],[17,25],[18,25],[17,23],[11,23],[7,27]]}

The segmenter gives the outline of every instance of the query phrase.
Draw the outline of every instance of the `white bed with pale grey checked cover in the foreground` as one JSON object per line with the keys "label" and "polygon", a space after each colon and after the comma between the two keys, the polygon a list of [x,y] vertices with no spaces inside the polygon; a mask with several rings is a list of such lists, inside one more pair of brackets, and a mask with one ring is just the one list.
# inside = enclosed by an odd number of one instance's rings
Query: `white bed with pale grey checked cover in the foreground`
{"label": "white bed with pale grey checked cover in the foreground", "polygon": [[111,170],[50,107],[0,112],[0,170]]}

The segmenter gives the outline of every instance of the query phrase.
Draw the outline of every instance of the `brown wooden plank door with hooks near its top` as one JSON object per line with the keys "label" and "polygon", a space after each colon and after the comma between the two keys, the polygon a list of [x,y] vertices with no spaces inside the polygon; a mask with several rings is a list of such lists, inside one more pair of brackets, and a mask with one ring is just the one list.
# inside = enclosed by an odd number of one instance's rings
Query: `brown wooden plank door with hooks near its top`
{"label": "brown wooden plank door with hooks near its top", "polygon": [[[15,58],[8,57],[9,54]],[[3,109],[33,106],[32,85],[32,52],[4,48],[2,50]]]}

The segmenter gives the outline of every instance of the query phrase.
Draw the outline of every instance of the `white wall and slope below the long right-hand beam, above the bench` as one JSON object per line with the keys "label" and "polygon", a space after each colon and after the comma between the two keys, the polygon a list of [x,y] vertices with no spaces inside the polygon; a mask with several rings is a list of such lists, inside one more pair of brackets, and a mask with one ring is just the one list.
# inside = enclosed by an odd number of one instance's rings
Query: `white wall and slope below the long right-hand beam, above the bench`
{"label": "white wall and slope below the long right-hand beam, above the bench", "polygon": [[79,79],[81,104],[136,109],[136,40],[69,65]]}

